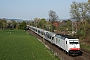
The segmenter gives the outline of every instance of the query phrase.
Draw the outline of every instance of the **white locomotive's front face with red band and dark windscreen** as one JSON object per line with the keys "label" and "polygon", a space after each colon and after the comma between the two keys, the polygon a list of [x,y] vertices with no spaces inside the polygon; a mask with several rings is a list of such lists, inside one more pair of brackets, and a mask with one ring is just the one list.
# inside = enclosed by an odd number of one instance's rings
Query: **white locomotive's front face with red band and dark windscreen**
{"label": "white locomotive's front face with red band and dark windscreen", "polygon": [[81,55],[79,40],[69,39],[68,42],[69,55]]}

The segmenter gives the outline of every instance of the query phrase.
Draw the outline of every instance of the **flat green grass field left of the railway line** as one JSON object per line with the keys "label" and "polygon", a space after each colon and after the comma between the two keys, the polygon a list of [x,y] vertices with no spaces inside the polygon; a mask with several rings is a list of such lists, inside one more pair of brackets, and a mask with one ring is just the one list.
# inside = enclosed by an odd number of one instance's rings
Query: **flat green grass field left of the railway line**
{"label": "flat green grass field left of the railway line", "polygon": [[23,30],[0,30],[0,60],[56,60],[48,51]]}

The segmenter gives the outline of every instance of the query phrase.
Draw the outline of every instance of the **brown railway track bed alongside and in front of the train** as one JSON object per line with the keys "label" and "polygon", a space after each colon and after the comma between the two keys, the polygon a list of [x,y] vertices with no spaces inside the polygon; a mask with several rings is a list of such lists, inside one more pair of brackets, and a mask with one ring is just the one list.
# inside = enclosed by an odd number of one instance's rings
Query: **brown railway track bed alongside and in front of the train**
{"label": "brown railway track bed alongside and in front of the train", "polygon": [[31,30],[28,30],[28,33],[38,38],[39,41],[45,44],[45,46],[47,46],[51,51],[53,51],[54,54],[57,55],[61,60],[90,60],[90,53],[88,53],[87,51],[82,50],[82,56],[68,56],[62,49],[46,41]]}

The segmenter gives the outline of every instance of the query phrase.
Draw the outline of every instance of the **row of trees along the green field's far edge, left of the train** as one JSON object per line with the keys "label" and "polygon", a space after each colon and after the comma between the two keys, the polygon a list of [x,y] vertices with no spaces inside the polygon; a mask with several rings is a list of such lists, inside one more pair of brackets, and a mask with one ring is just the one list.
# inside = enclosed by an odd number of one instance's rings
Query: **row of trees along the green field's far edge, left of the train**
{"label": "row of trees along the green field's far edge, left of the train", "polygon": [[26,28],[26,22],[16,22],[14,20],[6,20],[0,19],[0,29],[5,30],[5,29],[25,29]]}

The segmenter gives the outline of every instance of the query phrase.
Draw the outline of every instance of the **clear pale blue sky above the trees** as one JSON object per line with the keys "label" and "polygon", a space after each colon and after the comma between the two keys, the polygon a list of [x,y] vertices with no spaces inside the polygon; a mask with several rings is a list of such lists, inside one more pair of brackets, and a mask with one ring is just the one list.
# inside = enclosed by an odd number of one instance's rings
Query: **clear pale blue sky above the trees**
{"label": "clear pale blue sky above the trees", "polygon": [[87,2],[88,0],[0,0],[0,18],[47,19],[49,11],[53,10],[60,19],[69,19],[70,5],[73,1]]}

